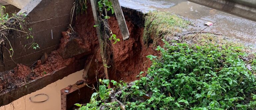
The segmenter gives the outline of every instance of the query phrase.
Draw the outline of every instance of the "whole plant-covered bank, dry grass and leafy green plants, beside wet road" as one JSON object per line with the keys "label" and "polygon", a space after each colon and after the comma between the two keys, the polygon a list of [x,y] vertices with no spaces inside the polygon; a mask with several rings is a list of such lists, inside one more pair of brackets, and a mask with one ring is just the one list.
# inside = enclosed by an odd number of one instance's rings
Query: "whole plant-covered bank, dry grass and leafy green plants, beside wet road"
{"label": "whole plant-covered bank, dry grass and leafy green plants, beside wet road", "polygon": [[[182,33],[191,23],[176,15],[152,12],[146,16],[144,41],[161,55],[146,76],[133,82],[99,80],[90,103],[80,110],[254,110],[256,109],[255,52],[214,33]],[[181,35],[181,36],[180,36]],[[113,83],[114,88],[107,89]]]}

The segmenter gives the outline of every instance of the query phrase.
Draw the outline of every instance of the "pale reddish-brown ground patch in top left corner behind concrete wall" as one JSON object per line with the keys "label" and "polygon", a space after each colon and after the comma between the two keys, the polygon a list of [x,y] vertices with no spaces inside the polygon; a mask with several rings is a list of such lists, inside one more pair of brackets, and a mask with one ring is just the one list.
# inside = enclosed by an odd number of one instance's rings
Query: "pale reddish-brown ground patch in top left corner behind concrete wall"
{"label": "pale reddish-brown ground patch in top left corner behind concrete wall", "polygon": [[0,0],[0,3],[5,3],[6,4],[12,4],[19,9],[22,9],[25,7],[31,0]]}

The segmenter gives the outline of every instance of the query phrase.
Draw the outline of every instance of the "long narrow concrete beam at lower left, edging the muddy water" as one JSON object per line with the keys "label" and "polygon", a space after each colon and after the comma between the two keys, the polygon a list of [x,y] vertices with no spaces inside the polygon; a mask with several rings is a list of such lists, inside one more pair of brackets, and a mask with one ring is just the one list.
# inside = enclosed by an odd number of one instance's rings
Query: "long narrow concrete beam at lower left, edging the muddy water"
{"label": "long narrow concrete beam at lower left, edging the muddy water", "polygon": [[0,95],[0,106],[7,105],[20,97],[42,89],[52,82],[62,79],[71,73],[82,70],[84,68],[84,62],[85,59],[76,60],[71,65],[60,68],[53,73],[47,74],[26,84],[22,84],[18,88],[9,92],[2,93]]}

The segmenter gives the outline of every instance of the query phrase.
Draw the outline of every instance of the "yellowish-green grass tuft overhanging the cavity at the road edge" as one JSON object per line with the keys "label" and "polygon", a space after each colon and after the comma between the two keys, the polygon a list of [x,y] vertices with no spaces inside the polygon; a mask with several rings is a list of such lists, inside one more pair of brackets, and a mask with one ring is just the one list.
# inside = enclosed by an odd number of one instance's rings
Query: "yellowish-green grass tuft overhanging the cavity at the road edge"
{"label": "yellowish-green grass tuft overhanging the cavity at the road edge", "polygon": [[187,28],[191,23],[170,12],[150,12],[145,17],[145,30],[143,40],[147,46],[156,45],[156,41],[173,36]]}

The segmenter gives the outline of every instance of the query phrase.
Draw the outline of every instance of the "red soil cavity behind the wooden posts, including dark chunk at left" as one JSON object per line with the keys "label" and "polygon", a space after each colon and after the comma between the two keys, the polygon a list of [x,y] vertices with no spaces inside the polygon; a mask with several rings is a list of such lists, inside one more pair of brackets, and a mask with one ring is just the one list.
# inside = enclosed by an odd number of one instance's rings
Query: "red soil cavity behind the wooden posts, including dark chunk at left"
{"label": "red soil cavity behind the wooden posts, including dark chunk at left", "polygon": [[[108,19],[110,29],[120,42],[112,44],[111,60],[112,64],[109,67],[109,77],[112,80],[123,80],[125,82],[136,80],[136,76],[146,70],[150,66],[150,61],[146,58],[147,55],[156,54],[157,51],[153,47],[147,47],[143,41],[143,18],[141,13],[133,13],[134,10],[124,9],[126,24],[130,33],[130,38],[127,40],[122,39],[118,22],[115,16]],[[141,15],[140,15],[141,14]],[[76,23],[73,30],[69,29],[62,32],[63,38],[61,39],[59,52],[64,58],[79,56],[87,57],[85,61],[85,69],[89,63],[90,67],[84,78],[89,82],[96,76],[97,78],[104,78],[104,66],[100,57],[100,50],[98,38],[94,28],[94,18],[92,9],[88,6],[86,14],[77,16]],[[108,65],[109,66],[109,65]]]}

